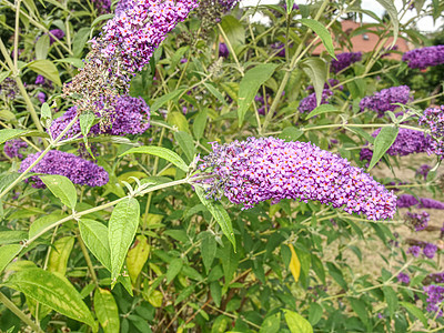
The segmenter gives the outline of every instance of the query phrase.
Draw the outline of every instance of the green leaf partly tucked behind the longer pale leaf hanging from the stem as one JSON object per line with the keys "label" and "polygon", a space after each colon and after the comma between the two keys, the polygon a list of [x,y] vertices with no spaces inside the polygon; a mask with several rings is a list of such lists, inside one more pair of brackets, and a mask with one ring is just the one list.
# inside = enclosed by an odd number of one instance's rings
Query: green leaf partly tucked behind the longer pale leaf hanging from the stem
{"label": "green leaf partly tucked behind the longer pale leaf hanging from the stem", "polygon": [[80,235],[91,253],[111,271],[111,250],[108,241],[108,228],[90,219],[80,219]]}

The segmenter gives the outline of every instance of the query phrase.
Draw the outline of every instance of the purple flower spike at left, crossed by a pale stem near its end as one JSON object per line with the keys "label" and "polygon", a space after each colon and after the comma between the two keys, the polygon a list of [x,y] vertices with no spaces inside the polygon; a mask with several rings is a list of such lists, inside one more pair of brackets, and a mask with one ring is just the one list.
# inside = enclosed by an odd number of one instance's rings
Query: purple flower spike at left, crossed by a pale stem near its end
{"label": "purple flower spike at left, crossed by a pale stem near its end", "polygon": [[[24,172],[39,157],[41,152],[30,154],[20,165],[19,172]],[[69,178],[74,184],[102,186],[108,183],[108,172],[91,161],[83,160],[74,154],[50,150],[42,160],[31,169],[31,172],[44,174],[60,174]],[[27,179],[36,189],[46,188],[38,175]]]}

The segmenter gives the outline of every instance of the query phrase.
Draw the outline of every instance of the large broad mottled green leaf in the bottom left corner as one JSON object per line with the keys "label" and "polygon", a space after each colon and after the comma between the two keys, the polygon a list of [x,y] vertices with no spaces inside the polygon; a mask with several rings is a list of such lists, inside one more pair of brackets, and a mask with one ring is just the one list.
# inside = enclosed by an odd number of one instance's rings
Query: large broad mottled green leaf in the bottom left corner
{"label": "large broad mottled green leaf in the bottom left corner", "polygon": [[97,323],[80,293],[64,276],[58,273],[42,269],[18,271],[9,278],[4,285],[97,330]]}

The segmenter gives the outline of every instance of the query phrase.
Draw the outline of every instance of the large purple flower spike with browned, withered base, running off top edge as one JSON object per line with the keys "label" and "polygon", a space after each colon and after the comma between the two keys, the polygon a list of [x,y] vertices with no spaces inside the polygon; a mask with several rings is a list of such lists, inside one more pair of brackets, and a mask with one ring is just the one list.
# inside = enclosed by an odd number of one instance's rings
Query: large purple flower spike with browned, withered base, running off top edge
{"label": "large purple flower spike with browned, withered base, running off top edge", "polygon": [[118,95],[128,93],[131,78],[196,6],[194,0],[124,1],[102,33],[90,41],[84,68],[64,85],[64,95],[73,99],[79,113],[114,112]]}

